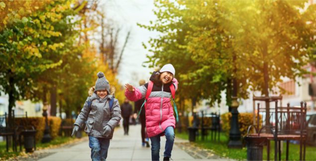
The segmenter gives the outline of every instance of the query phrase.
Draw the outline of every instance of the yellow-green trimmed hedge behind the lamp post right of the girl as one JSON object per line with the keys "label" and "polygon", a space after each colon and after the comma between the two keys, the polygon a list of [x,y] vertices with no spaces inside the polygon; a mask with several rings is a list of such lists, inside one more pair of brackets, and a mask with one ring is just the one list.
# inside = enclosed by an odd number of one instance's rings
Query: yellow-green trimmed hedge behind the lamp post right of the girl
{"label": "yellow-green trimmed hedge behind the lamp post right of the girl", "polygon": [[[262,116],[259,115],[260,122],[262,120]],[[256,114],[257,118],[257,114]],[[230,130],[230,120],[231,120],[231,113],[227,112],[220,115],[222,130],[228,135]],[[253,113],[239,113],[238,114],[238,123],[240,127],[241,136],[247,135],[247,130],[250,125],[253,124]],[[252,128],[254,130],[254,128]]]}

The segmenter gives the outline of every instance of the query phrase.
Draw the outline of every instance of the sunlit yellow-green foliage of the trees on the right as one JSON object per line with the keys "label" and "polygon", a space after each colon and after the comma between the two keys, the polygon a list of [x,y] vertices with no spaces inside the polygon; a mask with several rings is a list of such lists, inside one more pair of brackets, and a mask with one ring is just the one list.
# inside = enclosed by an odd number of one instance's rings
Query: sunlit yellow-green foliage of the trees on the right
{"label": "sunlit yellow-green foliage of the trees on the right", "polygon": [[187,99],[220,100],[220,92],[233,78],[237,79],[238,97],[246,98],[250,87],[262,93],[272,91],[282,76],[294,79],[305,73],[302,67],[312,57],[308,49],[316,46],[311,39],[316,35],[312,9],[316,5],[301,13],[302,4],[159,0],[155,2],[157,20],[151,25],[138,24],[161,33],[144,45],[151,47],[145,63],[160,66],[171,62],[179,86],[191,93],[183,96]]}

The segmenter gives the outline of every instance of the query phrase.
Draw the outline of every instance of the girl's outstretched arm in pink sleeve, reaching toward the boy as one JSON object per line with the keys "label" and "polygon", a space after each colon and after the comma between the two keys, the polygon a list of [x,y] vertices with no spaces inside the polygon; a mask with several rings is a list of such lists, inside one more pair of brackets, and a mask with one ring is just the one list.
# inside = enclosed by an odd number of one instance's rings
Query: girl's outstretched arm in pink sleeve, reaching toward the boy
{"label": "girl's outstretched arm in pink sleeve, reaching toward the boy", "polygon": [[144,85],[135,88],[130,84],[125,84],[125,88],[125,96],[130,101],[138,101],[144,98],[147,92],[147,88]]}

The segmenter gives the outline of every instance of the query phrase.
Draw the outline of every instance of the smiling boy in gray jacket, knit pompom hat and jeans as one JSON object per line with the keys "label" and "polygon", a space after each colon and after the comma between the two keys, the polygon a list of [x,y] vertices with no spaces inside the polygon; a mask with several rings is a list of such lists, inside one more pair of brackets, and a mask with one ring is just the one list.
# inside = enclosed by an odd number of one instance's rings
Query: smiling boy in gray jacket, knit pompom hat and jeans
{"label": "smiling boy in gray jacket, knit pompom hat and jeans", "polygon": [[89,135],[92,161],[105,161],[109,140],[113,137],[114,127],[121,119],[121,110],[117,99],[110,91],[104,73],[99,72],[95,89],[87,98],[78,115],[72,135],[86,122],[85,132]]}

